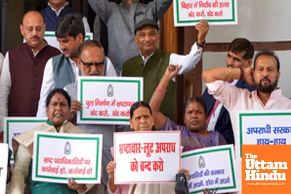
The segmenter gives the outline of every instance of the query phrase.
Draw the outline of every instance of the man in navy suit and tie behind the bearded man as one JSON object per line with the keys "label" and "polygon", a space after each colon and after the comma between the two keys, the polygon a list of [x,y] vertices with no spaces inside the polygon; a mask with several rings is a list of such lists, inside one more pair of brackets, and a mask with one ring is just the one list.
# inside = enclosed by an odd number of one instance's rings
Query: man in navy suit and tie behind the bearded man
{"label": "man in navy suit and tie behind the bearded man", "polygon": [[[236,38],[229,45],[226,65],[233,67],[249,67],[252,65],[253,56],[254,46],[250,41],[245,38]],[[256,89],[254,85],[248,85],[244,80],[233,80],[230,84],[238,88],[245,88],[249,91]],[[225,138],[227,144],[234,144],[232,125],[226,108],[208,93],[207,88],[202,98],[207,104],[208,130],[218,131]]]}

